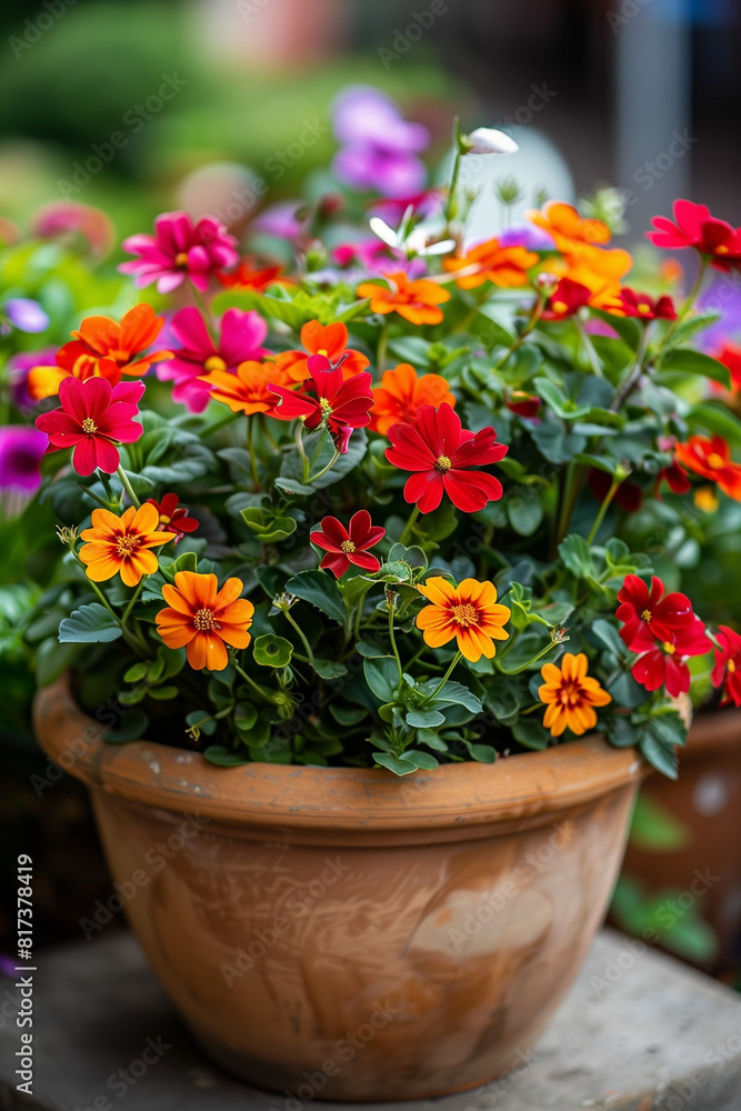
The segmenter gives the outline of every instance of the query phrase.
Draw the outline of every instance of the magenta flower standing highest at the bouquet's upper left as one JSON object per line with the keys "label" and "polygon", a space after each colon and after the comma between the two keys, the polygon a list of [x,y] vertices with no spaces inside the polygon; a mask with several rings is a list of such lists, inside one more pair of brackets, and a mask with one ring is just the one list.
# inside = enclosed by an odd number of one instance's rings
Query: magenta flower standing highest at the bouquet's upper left
{"label": "magenta flower standing highest at the bouquet's upper left", "polygon": [[237,240],[212,216],[193,224],[187,212],[163,212],[154,220],[153,236],[129,236],[122,246],[139,258],[119,270],[136,274],[139,289],[156,281],[160,293],[171,293],[186,278],[204,292],[211,274],[239,262]]}

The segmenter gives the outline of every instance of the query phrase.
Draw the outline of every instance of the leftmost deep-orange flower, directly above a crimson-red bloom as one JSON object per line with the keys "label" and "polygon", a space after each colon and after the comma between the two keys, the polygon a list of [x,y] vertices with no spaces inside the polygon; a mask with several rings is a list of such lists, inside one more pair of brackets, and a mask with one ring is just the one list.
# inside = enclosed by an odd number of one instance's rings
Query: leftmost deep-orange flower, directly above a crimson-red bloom
{"label": "leftmost deep-orange flower, directly above a crimson-red bloom", "polygon": [[138,359],[154,342],[164,319],[154,313],[151,304],[136,304],[121,319],[86,317],[73,340],[57,352],[56,367],[34,367],[28,379],[32,398],[52,398],[59,393],[59,383],[66,378],[107,378],[118,386],[121,374],[146,374],[153,362],[171,359],[170,351],[153,351]]}

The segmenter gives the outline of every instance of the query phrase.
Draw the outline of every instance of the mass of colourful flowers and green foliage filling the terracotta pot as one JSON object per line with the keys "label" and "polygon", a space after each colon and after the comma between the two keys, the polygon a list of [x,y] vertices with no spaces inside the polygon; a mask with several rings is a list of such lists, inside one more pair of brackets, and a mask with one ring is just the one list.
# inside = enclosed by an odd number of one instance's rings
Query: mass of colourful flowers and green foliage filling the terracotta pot
{"label": "mass of colourful flowers and green foliage filling the terracotta pot", "polygon": [[[338,176],[370,190],[390,156],[383,128],[353,139],[361,109],[340,106]],[[419,192],[412,138],[395,227],[381,190],[338,242],[320,200],[283,271],[166,213],[121,270],[177,297],[167,327],[147,303],[89,317],[31,369],[66,550],[48,655],[86,705],[126,709],[109,740],[223,765],[404,775],[600,730],[673,775],[693,679],[741,704],[741,637],[614,533],[639,503],[741,500],[730,372],[692,346],[741,230],[689,201],[657,218],[699,262],[677,304],[571,204],[467,243],[460,166],[512,140],[455,126],[450,188]]]}

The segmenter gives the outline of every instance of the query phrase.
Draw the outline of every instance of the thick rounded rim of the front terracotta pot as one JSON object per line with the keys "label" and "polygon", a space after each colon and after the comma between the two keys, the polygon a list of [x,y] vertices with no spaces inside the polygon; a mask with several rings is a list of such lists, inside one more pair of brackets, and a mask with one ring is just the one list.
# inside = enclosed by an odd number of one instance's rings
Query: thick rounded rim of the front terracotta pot
{"label": "thick rounded rim of the front terracotta pot", "polygon": [[197,752],[153,741],[104,741],[104,727],[77,705],[68,673],[37,692],[33,719],[47,755],[89,787],[178,813],[197,810],[229,824],[283,830],[432,831],[547,820],[650,770],[635,749],[613,748],[602,734],[494,764],[442,764],[404,778],[371,768],[219,768]]}

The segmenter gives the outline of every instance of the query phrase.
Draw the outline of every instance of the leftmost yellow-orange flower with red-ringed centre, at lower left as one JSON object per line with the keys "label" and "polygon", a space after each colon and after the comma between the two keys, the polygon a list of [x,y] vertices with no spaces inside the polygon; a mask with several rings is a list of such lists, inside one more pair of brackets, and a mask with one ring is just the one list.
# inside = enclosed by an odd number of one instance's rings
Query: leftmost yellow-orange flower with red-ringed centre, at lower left
{"label": "leftmost yellow-orange flower with red-ringed centre, at lower left", "polygon": [[112,579],[121,572],[127,587],[136,587],[142,574],[157,571],[157,556],[150,548],[167,544],[171,532],[158,532],[160,514],[154,506],[144,502],[137,509],[131,506],[121,517],[107,509],[93,509],[92,528],[80,533],[87,541],[80,549],[86,574],[93,582]]}

